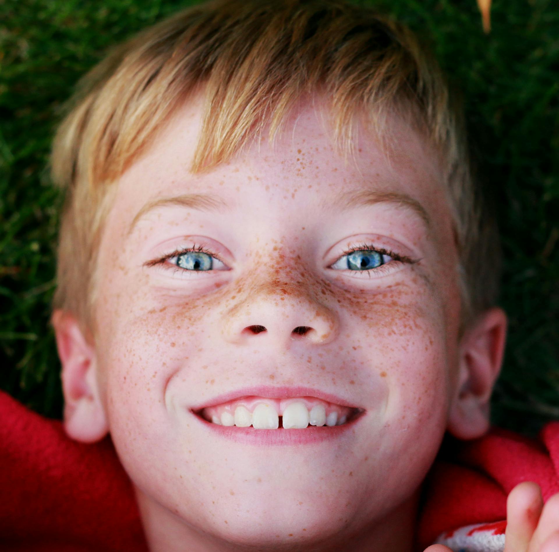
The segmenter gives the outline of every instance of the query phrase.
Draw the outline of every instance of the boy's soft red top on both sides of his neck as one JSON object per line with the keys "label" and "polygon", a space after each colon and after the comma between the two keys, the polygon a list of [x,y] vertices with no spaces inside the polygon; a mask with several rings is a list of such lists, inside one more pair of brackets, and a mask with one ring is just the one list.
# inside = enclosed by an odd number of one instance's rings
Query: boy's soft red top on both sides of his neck
{"label": "boy's soft red top on both sides of his neck", "polygon": [[[447,436],[423,487],[418,550],[471,524],[504,531],[506,497],[535,481],[559,492],[559,422],[539,441],[493,428],[474,441]],[[0,549],[7,552],[148,550],[132,484],[110,436],[83,444],[0,391]]]}

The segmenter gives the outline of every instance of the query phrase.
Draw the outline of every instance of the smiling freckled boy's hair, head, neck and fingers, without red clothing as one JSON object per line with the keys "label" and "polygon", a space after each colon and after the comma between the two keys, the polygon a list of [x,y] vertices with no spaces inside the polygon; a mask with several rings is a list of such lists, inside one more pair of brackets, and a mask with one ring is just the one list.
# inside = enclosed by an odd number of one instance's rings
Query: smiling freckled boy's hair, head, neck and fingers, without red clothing
{"label": "smiling freckled boy's hair, head, neck and fingers, without red clothing", "polygon": [[[53,152],[64,428],[111,435],[150,550],[416,549],[505,342],[464,144],[409,32],[337,0],[202,4],[84,80]],[[559,549],[558,499],[514,489],[506,552]]]}

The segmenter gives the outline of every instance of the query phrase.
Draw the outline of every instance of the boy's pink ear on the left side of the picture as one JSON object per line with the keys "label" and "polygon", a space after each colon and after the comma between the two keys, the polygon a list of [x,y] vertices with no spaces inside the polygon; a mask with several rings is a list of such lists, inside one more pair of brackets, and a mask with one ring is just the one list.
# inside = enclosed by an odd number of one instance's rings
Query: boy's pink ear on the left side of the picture
{"label": "boy's pink ear on the left side of the picture", "polygon": [[76,441],[100,441],[108,424],[97,384],[95,348],[71,313],[56,310],[52,323],[62,364],[64,430]]}

